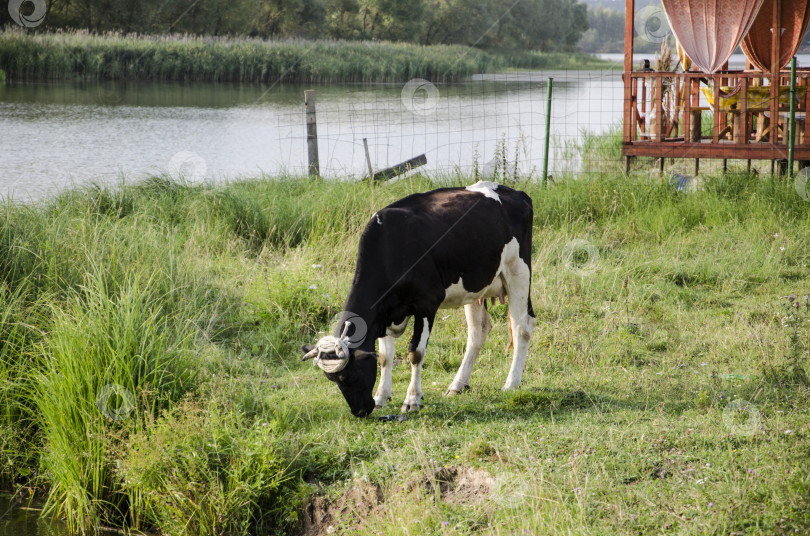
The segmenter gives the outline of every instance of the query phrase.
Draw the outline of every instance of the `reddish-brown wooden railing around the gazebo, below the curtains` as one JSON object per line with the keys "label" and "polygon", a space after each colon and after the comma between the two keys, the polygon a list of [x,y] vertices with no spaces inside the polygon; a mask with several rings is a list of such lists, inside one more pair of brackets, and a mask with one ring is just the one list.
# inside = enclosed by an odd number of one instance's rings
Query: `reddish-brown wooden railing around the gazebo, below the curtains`
{"label": "reddish-brown wooden railing around the gazebo, below the curtains", "polygon": [[[810,160],[810,71],[797,72],[797,158]],[[790,72],[625,73],[624,145],[628,156],[780,159],[786,157]],[[701,95],[703,98],[701,99]],[[703,103],[703,104],[702,104]],[[712,121],[704,131],[703,121]],[[630,128],[628,128],[628,125]]]}

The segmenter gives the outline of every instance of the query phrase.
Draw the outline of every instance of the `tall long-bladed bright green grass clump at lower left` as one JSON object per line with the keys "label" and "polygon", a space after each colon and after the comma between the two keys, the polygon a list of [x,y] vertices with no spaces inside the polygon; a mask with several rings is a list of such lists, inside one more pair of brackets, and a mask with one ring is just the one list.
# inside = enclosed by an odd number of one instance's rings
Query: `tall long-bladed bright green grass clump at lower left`
{"label": "tall long-bladed bright green grass clump at lower left", "polygon": [[53,311],[32,395],[52,480],[48,510],[73,530],[120,524],[126,498],[110,471],[115,432],[140,429],[191,389],[195,330],[154,279],[110,288],[101,274]]}

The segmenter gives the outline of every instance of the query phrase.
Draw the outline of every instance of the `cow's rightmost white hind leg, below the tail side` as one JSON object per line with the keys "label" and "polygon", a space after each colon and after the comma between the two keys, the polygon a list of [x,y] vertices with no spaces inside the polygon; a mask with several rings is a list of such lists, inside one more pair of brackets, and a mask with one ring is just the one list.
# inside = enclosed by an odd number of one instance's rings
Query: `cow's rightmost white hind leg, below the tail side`
{"label": "cow's rightmost white hind leg, below the tail side", "polygon": [[529,341],[537,325],[534,317],[532,302],[529,297],[531,286],[531,270],[520,258],[510,263],[508,273],[505,273],[505,283],[509,294],[509,323],[512,328],[512,366],[506,377],[503,389],[520,387],[523,376],[523,367],[526,364],[526,354],[529,351]]}

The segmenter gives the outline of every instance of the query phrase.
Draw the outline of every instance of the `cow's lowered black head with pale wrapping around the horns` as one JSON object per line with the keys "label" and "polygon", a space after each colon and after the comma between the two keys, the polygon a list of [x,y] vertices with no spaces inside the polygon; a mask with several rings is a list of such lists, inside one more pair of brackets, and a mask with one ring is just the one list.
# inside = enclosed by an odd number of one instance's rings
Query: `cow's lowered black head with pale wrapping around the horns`
{"label": "cow's lowered black head with pale wrapping around the horns", "polygon": [[304,361],[314,359],[326,377],[335,382],[349,403],[355,417],[365,417],[374,411],[371,393],[377,381],[377,360],[374,352],[349,348],[345,339],[327,336],[315,346],[301,347]]}

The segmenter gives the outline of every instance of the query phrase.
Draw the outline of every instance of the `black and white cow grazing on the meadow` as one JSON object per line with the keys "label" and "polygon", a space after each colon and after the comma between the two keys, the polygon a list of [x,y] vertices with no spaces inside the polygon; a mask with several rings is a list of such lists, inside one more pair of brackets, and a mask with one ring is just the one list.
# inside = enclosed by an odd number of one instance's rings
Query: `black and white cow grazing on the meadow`
{"label": "black and white cow grazing on the meadow", "polygon": [[[531,286],[532,201],[492,182],[409,195],[371,217],[360,238],[357,266],[335,333],[304,346],[337,383],[353,415],[364,417],[391,399],[394,338],[414,318],[408,358],[411,383],[402,411],[422,405],[422,362],[436,313],[464,306],[467,349],[446,395],[469,386],[475,360],[492,327],[486,299],[509,297],[514,355],[503,388],[520,386],[537,323]],[[377,380],[375,340],[382,379]]]}

